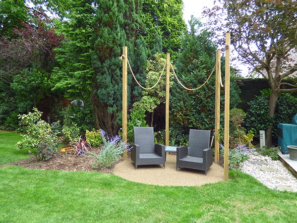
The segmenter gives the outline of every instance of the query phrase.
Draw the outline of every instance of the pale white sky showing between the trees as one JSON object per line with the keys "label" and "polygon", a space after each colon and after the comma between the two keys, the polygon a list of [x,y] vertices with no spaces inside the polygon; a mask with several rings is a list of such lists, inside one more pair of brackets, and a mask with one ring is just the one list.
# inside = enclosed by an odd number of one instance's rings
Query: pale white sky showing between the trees
{"label": "pale white sky showing between the trees", "polygon": [[[216,1],[218,3],[218,1]],[[183,20],[186,24],[188,24],[188,20],[190,20],[191,15],[198,18],[202,23],[205,23],[202,11],[204,7],[212,8],[214,6],[214,0],[183,0]],[[232,48],[231,48],[232,49]],[[236,52],[231,52],[232,55],[237,56]],[[249,68],[239,62],[238,60],[231,61],[231,66],[238,67],[241,72],[241,76],[246,77],[249,72]]]}

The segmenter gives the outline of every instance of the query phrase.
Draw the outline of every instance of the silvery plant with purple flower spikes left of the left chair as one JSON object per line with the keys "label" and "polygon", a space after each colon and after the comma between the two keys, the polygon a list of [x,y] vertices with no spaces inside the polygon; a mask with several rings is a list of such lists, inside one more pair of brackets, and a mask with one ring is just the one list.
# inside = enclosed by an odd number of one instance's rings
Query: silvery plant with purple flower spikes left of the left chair
{"label": "silvery plant with purple flower spikes left of the left chair", "polygon": [[127,151],[127,145],[121,141],[120,135],[109,138],[106,132],[101,129],[100,135],[103,139],[103,145],[98,154],[89,152],[95,162],[93,168],[111,168],[121,157],[122,153]]}

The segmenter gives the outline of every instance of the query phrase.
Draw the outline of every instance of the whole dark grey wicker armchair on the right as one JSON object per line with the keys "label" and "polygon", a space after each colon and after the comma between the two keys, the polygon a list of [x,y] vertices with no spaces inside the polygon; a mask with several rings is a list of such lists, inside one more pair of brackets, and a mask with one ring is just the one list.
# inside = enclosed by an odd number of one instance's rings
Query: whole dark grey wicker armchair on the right
{"label": "whole dark grey wicker armchair on the right", "polygon": [[210,131],[190,129],[189,146],[177,148],[178,167],[204,170],[207,173],[212,166],[212,150],[209,148]]}

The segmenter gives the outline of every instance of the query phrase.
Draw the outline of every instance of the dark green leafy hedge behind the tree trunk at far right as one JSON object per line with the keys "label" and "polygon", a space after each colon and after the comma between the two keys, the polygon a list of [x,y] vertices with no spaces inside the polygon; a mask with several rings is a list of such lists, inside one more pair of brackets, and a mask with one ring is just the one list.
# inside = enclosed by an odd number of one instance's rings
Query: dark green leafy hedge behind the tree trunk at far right
{"label": "dark green leafy hedge behind the tree trunk at far right", "polygon": [[276,107],[276,114],[269,116],[269,91],[262,91],[253,101],[248,103],[244,124],[248,130],[252,130],[255,137],[259,137],[260,130],[266,130],[273,125],[273,137],[277,137],[278,123],[291,123],[297,111],[297,98],[290,94],[282,94]]}

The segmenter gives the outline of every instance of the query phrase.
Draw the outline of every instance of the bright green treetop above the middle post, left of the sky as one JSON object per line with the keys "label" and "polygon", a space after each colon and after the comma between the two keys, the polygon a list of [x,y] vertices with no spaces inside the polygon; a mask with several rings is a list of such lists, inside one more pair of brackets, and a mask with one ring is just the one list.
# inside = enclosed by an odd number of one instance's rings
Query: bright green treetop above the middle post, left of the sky
{"label": "bright green treetop above the middle post, left of the sky", "polygon": [[176,56],[181,46],[180,36],[186,32],[182,7],[181,0],[143,0],[144,39],[150,56],[154,53]]}

